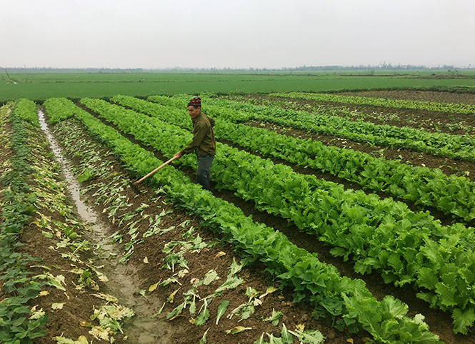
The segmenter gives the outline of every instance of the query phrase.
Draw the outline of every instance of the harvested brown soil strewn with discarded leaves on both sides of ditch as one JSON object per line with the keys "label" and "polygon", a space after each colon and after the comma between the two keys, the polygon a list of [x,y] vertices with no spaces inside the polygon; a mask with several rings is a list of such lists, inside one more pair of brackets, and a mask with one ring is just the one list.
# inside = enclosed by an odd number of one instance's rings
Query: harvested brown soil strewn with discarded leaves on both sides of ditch
{"label": "harvested brown soil strewn with discarded leaves on both sides of ditch", "polygon": [[[8,121],[2,124],[6,123]],[[84,228],[77,219],[71,218],[72,209],[67,207],[68,201],[64,198],[67,191],[64,185],[52,183],[49,178],[51,175],[59,178],[57,164],[51,161],[48,151],[30,147],[38,160],[46,160],[41,166],[45,168],[44,165],[51,164],[54,171],[36,169],[41,174],[35,173],[31,177],[35,181],[32,181],[33,184],[46,183],[41,190],[34,186],[38,198],[31,198],[33,208],[38,208],[37,204],[44,208],[32,211],[31,215],[38,217],[36,221],[26,221],[28,225],[19,237],[25,248],[20,252],[26,251],[42,258],[41,261],[23,265],[34,265],[31,266],[34,280],[42,278],[48,282],[37,285],[36,295],[39,298],[21,305],[21,314],[26,315],[24,318],[12,319],[16,325],[2,324],[2,330],[15,329],[9,331],[11,337],[19,338],[20,343],[28,343],[26,338],[34,339],[35,343],[72,343],[70,338],[78,339],[78,343],[86,343],[85,340],[90,343],[112,337],[115,338],[114,343],[199,343],[207,336],[208,343],[229,340],[251,343],[261,337],[268,338],[265,333],[269,333],[270,338],[282,335],[286,338],[305,337],[318,343],[323,336],[316,329],[321,328],[326,337],[335,340],[335,343],[346,342],[348,333],[335,332],[324,322],[311,318],[311,309],[306,309],[305,305],[294,305],[290,295],[259,277],[256,271],[260,268],[250,269],[238,263],[240,258],[235,256],[229,244],[221,243],[216,237],[208,238],[211,233],[199,232],[199,221],[174,208],[160,189],[155,192],[144,188],[141,195],[134,194],[130,188],[124,189],[129,179],[111,152],[97,146],[94,140],[87,137],[84,127],[78,129],[77,123],[64,122],[61,125],[56,128],[56,135],[64,140],[66,150],[69,149],[71,158],[76,160],[74,166],[79,179],[88,184],[85,197],[104,211],[106,221],[115,226],[116,231],[110,233],[108,241],[122,242],[123,236],[124,241],[131,239],[123,246],[125,254],[120,254],[120,261],[126,263],[131,260],[129,264],[136,271],[131,275],[122,273],[120,277],[136,280],[138,285],[121,294],[134,294],[134,305],[139,303],[137,300],[147,300],[148,313],[140,313],[137,317],[149,318],[149,336],[143,338],[144,333],[137,331],[134,336],[133,328],[127,331],[128,324],[124,325],[121,320],[131,317],[134,311],[120,306],[113,295],[107,294],[114,288],[109,286],[106,275],[114,275],[118,269],[111,269],[110,266],[109,269],[101,268],[89,260],[106,265],[106,261],[98,260],[96,254],[113,258],[114,253],[79,240],[79,234],[82,234],[80,228]],[[21,134],[31,137],[31,131],[29,128]],[[44,148],[41,132],[36,135]],[[5,140],[8,140],[7,135]],[[49,189],[56,191],[56,198],[46,193]],[[61,214],[67,217],[61,218]],[[142,222],[149,226],[144,226]],[[132,239],[137,237],[134,233],[141,234],[139,242]],[[89,236],[91,238],[91,234]],[[96,253],[91,253],[91,246],[94,246]],[[49,249],[44,250],[46,247]],[[18,290],[23,290],[21,285],[27,283],[26,280],[14,280],[11,273],[2,275],[2,279],[4,285],[15,286]],[[181,290],[182,287],[186,290]],[[178,293],[179,290],[181,293]],[[13,300],[10,294],[11,290],[6,290],[3,296],[8,298],[2,297],[2,306],[7,300]],[[30,294],[35,296],[35,293]],[[130,296],[125,299],[131,302]],[[33,303],[34,308],[31,308]],[[174,315],[169,315],[173,312]],[[19,313],[18,307],[16,313]],[[26,337],[18,335],[21,334],[19,328],[35,330],[31,325],[35,321],[36,327],[44,325],[46,331],[31,331]],[[282,332],[284,321],[289,328]],[[215,326],[210,330],[212,324]],[[130,325],[138,324],[134,322]],[[140,329],[141,332],[143,330]],[[226,330],[229,331],[227,338]],[[8,339],[2,337],[4,343],[10,343]]]}

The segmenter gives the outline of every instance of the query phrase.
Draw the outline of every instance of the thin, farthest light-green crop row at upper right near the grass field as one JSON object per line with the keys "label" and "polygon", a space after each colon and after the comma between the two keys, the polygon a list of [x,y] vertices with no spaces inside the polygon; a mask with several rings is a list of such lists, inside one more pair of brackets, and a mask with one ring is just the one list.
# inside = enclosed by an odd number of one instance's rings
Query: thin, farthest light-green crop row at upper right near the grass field
{"label": "thin, farthest light-green crop row at upper right near the grass field", "polygon": [[325,93],[270,93],[269,96],[311,99],[315,101],[332,101],[335,103],[358,104],[369,106],[382,106],[385,108],[409,108],[414,110],[437,111],[446,113],[467,113],[475,114],[475,106],[464,103],[441,103],[437,101],[408,101],[389,98],[371,98],[359,96],[337,96],[336,94]]}

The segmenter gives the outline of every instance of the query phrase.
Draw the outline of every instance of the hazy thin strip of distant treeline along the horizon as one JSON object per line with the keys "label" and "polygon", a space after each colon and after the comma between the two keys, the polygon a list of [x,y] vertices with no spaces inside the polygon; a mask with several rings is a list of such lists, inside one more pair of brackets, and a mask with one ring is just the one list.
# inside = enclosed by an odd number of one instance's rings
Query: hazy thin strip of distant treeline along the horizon
{"label": "hazy thin strip of distant treeline along the horizon", "polygon": [[52,68],[52,67],[4,67],[4,72],[8,73],[172,73],[172,72],[201,72],[201,73],[216,73],[216,72],[256,72],[256,71],[454,71],[456,69],[471,69],[471,65],[467,68],[459,68],[456,66],[416,66],[411,64],[380,64],[377,66],[371,65],[359,65],[359,66],[300,66],[300,67],[283,67],[280,69],[268,69],[268,68],[249,68],[249,69],[236,69],[236,68],[183,68],[173,67],[165,69],[119,69],[119,68]]}

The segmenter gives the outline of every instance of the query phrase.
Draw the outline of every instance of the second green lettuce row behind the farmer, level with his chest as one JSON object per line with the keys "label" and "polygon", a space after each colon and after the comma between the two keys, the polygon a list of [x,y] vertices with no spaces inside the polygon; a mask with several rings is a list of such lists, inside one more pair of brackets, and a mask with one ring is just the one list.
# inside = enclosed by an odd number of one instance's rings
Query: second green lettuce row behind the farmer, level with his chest
{"label": "second green lettuce row behind the farmer, level with his chest", "polygon": [[[189,128],[186,111],[175,108],[173,105],[176,104],[171,103],[169,98],[151,97],[160,104],[130,96],[114,96],[111,100],[135,111],[149,113],[162,121]],[[469,178],[446,176],[439,168],[413,167],[352,149],[325,146],[319,141],[293,138],[264,128],[221,120],[221,113],[226,113],[226,110],[219,106],[206,106],[206,113],[219,121],[214,128],[216,138],[232,141],[264,156],[281,158],[296,166],[329,172],[364,188],[384,191],[415,204],[433,206],[466,222],[475,218],[475,184]]]}

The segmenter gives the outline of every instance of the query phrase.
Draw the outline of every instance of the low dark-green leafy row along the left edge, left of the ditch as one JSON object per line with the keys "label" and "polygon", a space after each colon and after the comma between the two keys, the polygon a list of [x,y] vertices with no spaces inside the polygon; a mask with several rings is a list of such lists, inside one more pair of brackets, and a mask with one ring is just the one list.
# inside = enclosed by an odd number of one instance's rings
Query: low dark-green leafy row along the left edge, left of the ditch
{"label": "low dark-green leafy row along the left edge, left of the ditch", "polygon": [[29,302],[39,295],[44,282],[31,278],[26,265],[35,261],[27,253],[17,253],[21,246],[18,236],[34,213],[36,197],[31,191],[31,153],[27,122],[39,126],[36,104],[27,99],[9,103],[0,110],[0,125],[11,121],[11,138],[5,146],[10,146],[14,156],[9,159],[9,168],[2,173],[1,223],[0,223],[0,280],[6,298],[0,302],[0,342],[31,343],[31,340],[46,335],[42,327],[48,315],[33,318]]}

